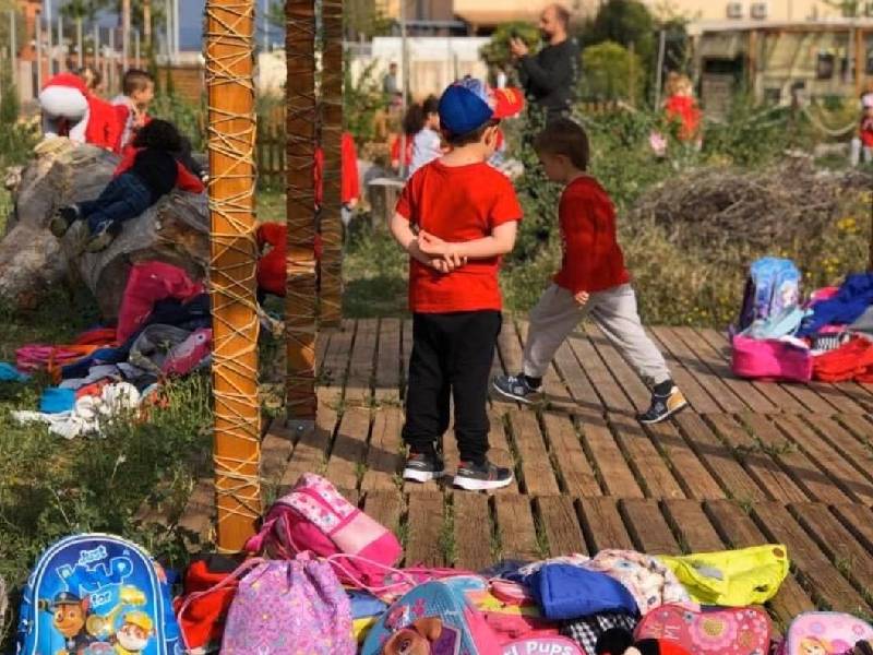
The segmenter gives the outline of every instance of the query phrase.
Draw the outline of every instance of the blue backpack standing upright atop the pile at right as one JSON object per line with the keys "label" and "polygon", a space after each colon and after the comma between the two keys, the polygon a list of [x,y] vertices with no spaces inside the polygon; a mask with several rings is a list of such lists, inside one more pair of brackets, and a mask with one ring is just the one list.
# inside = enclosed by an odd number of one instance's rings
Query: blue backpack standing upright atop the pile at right
{"label": "blue backpack standing upright atop the pile at right", "polygon": [[740,331],[800,301],[800,271],[791,260],[765,257],[749,269]]}

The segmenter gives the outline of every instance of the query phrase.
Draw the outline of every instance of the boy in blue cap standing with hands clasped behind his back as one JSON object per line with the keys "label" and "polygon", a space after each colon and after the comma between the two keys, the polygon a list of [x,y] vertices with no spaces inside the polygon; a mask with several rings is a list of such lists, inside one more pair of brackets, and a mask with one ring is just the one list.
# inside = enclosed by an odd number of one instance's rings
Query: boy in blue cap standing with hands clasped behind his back
{"label": "boy in blue cap standing with hands clasped behind his back", "polygon": [[477,80],[451,85],[439,103],[451,151],[420,168],[400,194],[391,231],[409,253],[412,354],[404,478],[442,477],[438,443],[449,428],[450,394],[462,489],[497,489],[512,472],[490,463],[486,404],[501,327],[498,269],[515,245],[522,207],[512,183],[486,163],[506,114]]}

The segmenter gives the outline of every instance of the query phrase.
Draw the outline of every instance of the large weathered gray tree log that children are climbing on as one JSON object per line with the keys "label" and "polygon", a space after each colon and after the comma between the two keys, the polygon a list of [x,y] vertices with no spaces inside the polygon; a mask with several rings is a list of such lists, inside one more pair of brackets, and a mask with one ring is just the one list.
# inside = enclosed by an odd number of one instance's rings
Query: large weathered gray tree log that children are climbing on
{"label": "large weathered gray tree log that children are climbing on", "polygon": [[104,319],[118,317],[133,263],[163,261],[194,279],[206,275],[210,228],[205,194],[174,191],[124,224],[103,252],[84,250],[87,227],[77,223],[62,238],[48,229],[58,207],[99,195],[111,179],[118,156],[65,139],[44,142],[12,189],[15,210],[0,241],[0,297],[26,309],[64,281],[84,284]]}

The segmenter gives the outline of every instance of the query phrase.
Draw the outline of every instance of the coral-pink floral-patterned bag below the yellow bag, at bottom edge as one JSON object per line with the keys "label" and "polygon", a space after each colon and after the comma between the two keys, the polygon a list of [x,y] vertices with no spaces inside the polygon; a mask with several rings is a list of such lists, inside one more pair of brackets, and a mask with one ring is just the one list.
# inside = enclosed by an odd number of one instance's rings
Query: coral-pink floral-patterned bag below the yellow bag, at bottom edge
{"label": "coral-pink floral-patterned bag below the yellow bag, at bottom edge", "polygon": [[670,641],[690,655],[766,655],[770,619],[760,607],[702,610],[674,603],[643,617],[634,638]]}

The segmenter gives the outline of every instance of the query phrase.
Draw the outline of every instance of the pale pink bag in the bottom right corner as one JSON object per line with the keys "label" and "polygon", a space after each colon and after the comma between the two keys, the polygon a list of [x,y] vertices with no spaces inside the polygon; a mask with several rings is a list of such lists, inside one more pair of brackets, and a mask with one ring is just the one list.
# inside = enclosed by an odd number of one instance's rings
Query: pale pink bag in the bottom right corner
{"label": "pale pink bag in the bottom right corner", "polygon": [[851,615],[808,611],[794,618],[779,655],[842,655],[859,641],[873,640],[873,627]]}

